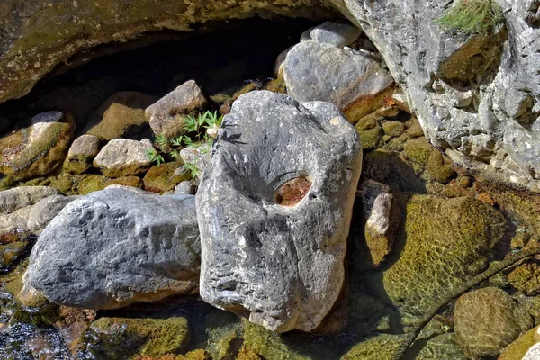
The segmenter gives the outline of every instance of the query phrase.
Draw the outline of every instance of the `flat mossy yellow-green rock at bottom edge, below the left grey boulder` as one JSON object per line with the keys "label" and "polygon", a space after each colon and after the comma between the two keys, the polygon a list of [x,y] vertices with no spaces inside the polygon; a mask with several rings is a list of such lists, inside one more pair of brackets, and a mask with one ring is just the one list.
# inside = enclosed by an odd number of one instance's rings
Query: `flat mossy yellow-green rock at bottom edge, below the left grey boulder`
{"label": "flat mossy yellow-green rock at bottom edge, below the left grey boulder", "polygon": [[178,354],[190,337],[185,318],[101,318],[87,335],[93,339],[89,347],[94,356],[106,359]]}

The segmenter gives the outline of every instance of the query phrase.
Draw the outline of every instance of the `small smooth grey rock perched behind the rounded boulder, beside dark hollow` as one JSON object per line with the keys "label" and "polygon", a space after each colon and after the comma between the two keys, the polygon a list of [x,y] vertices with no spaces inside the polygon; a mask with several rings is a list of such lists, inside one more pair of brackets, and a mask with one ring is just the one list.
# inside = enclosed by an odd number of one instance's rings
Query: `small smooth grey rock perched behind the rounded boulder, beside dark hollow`
{"label": "small smooth grey rock perched behind the rounded boulder, beside dark hollow", "polygon": [[336,48],[344,48],[355,42],[362,33],[351,24],[325,22],[302,34],[301,41],[315,40]]}

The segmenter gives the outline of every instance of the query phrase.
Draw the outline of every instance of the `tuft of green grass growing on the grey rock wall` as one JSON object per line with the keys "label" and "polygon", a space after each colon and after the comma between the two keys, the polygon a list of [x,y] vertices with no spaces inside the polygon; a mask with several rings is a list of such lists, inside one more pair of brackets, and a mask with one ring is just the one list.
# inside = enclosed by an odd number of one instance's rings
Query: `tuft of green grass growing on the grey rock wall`
{"label": "tuft of green grass growing on the grey rock wall", "polygon": [[446,30],[467,34],[489,34],[503,21],[500,5],[492,0],[457,0],[457,4],[437,19]]}

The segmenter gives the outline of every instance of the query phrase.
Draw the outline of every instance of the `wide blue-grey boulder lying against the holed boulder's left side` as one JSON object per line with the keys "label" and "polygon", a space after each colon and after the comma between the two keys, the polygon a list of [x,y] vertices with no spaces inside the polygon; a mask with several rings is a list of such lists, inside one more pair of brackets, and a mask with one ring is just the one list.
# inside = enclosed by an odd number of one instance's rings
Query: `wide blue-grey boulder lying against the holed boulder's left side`
{"label": "wide blue-grey boulder lying against the holed boulder's left side", "polygon": [[113,309],[196,293],[199,264],[194,196],[112,188],[70,202],[49,223],[25,286],[58,304]]}

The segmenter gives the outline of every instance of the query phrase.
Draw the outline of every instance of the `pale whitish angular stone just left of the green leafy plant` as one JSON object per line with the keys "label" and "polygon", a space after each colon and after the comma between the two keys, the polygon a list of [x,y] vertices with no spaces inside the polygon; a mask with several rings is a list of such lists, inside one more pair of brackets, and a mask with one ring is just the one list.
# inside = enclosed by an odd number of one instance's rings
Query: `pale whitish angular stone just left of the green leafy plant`
{"label": "pale whitish angular stone just left of the green leafy plant", "polygon": [[144,173],[152,165],[148,152],[154,150],[148,139],[135,141],[113,139],[94,159],[94,167],[108,177],[121,177]]}

